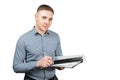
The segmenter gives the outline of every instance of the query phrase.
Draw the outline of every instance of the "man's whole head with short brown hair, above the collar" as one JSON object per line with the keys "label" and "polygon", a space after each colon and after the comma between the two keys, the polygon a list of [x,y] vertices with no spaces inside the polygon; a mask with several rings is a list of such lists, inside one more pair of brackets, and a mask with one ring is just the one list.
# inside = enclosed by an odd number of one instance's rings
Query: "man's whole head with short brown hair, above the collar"
{"label": "man's whole head with short brown hair, above the collar", "polygon": [[48,28],[50,27],[52,20],[53,20],[54,11],[48,5],[40,5],[37,9],[35,14],[36,30],[43,34],[45,33]]}

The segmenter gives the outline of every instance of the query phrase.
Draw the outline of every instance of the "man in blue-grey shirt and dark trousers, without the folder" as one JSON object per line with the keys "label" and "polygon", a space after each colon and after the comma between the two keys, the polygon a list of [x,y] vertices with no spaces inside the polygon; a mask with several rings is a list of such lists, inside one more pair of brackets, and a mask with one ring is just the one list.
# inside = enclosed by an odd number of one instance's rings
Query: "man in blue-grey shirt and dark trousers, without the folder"
{"label": "man in blue-grey shirt and dark trousers, without the folder", "polygon": [[13,69],[16,73],[25,73],[24,80],[57,80],[51,65],[55,56],[62,56],[62,50],[59,35],[48,30],[53,15],[50,6],[40,5],[34,28],[22,35],[16,44]]}

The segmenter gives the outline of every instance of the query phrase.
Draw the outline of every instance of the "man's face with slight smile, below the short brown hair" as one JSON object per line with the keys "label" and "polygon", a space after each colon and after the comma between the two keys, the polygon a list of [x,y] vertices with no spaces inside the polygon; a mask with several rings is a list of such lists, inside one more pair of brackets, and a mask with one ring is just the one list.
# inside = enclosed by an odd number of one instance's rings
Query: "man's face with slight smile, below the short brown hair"
{"label": "man's face with slight smile, below the short brown hair", "polygon": [[53,13],[48,10],[40,10],[35,15],[36,27],[40,31],[46,31],[50,27],[53,20]]}

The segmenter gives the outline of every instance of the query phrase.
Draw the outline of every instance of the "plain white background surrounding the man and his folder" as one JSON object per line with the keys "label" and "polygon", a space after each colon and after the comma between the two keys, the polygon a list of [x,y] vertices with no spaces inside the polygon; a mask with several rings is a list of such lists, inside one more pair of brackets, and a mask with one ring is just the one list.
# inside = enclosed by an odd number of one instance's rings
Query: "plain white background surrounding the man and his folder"
{"label": "plain white background surrounding the man and his folder", "polygon": [[63,54],[86,57],[73,69],[57,70],[59,80],[120,80],[119,0],[1,0],[1,80],[23,80],[12,69],[15,45],[33,28],[42,3],[55,10],[50,29],[60,35]]}

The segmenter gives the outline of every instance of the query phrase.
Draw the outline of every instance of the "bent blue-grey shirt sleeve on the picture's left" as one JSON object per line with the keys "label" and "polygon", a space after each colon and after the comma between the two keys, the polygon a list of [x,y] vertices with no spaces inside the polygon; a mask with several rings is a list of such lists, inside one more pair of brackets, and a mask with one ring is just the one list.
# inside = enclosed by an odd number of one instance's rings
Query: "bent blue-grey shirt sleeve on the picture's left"
{"label": "bent blue-grey shirt sleeve on the picture's left", "polygon": [[25,43],[23,40],[19,39],[16,44],[16,50],[13,60],[13,70],[16,73],[25,73],[36,67],[36,61],[26,63],[25,58]]}

